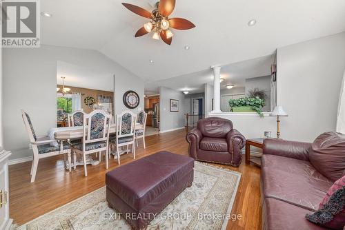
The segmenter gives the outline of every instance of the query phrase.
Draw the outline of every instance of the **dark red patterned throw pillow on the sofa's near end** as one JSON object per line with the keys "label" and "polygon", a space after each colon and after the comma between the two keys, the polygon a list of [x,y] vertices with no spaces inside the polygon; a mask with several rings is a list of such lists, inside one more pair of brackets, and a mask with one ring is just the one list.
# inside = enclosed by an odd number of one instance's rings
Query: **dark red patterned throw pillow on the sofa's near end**
{"label": "dark red patterned throw pillow on the sofa's near end", "polygon": [[345,176],[334,182],[315,213],[306,214],[306,219],[330,229],[345,226]]}

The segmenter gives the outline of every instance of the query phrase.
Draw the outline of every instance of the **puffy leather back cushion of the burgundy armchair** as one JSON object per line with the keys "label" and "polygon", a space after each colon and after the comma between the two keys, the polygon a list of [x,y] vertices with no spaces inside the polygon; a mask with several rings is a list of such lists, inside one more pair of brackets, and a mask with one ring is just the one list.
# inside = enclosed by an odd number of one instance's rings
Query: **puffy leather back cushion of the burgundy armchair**
{"label": "puffy leather back cushion of the burgundy armchair", "polygon": [[225,138],[226,134],[233,130],[233,123],[224,118],[209,117],[198,121],[197,128],[203,136]]}

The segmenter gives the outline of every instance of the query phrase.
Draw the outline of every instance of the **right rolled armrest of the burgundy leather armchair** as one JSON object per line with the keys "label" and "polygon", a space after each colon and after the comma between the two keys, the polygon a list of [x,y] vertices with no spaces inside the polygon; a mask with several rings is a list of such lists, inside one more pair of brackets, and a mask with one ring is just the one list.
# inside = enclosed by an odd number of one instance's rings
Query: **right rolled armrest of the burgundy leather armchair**
{"label": "right rolled armrest of the burgundy leather armchair", "polygon": [[246,145],[246,138],[236,129],[232,129],[226,134],[228,152],[232,155],[231,165],[237,167],[242,162],[242,149]]}

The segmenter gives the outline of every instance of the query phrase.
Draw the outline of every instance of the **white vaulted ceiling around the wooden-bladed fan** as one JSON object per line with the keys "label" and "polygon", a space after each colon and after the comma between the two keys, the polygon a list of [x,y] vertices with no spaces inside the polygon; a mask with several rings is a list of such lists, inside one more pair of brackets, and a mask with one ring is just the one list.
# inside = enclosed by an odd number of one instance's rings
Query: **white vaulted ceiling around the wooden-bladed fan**
{"label": "white vaulted ceiling around the wooden-bladed fan", "polygon": [[[122,0],[152,10],[149,1]],[[103,52],[145,81],[158,81],[273,54],[276,48],[345,31],[344,0],[177,0],[172,45],[134,34],[147,21],[119,0],[43,0],[43,44]],[[250,19],[257,24],[249,27]],[[184,50],[184,46],[190,50]],[[153,60],[154,63],[150,63]]]}

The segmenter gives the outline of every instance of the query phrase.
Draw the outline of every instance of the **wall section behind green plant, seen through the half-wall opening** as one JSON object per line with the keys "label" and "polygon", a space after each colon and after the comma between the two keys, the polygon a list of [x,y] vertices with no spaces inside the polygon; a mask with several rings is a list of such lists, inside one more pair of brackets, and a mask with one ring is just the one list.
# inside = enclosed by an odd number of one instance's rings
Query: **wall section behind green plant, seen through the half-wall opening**
{"label": "wall section behind green plant, seen through the half-wall opening", "polygon": [[267,98],[265,99],[266,105],[262,107],[262,111],[270,111],[270,76],[258,76],[251,79],[246,79],[246,95],[250,90],[258,88],[265,90]]}

